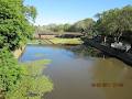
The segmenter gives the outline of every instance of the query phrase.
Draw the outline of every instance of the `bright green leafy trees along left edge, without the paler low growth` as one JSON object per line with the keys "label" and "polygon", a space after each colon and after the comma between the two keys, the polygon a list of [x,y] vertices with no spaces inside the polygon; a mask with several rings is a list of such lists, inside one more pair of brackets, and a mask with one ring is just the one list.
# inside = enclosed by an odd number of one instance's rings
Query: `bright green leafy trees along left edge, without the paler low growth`
{"label": "bright green leafy trees along left edge, without the paler low growth", "polygon": [[26,8],[23,0],[0,0],[0,91],[3,97],[18,87],[22,77],[11,51],[31,37],[33,26],[30,22],[35,14],[35,8]]}

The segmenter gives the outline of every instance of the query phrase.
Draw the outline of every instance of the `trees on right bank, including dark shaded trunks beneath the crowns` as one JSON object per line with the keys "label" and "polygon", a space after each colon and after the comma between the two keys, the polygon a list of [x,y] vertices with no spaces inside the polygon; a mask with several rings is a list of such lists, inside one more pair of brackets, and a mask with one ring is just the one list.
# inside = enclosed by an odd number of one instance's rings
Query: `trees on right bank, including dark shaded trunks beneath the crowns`
{"label": "trees on right bank, including dark shaded trunks beneath the crowns", "polygon": [[102,41],[111,44],[113,42],[125,42],[132,44],[132,6],[121,9],[111,9],[97,13],[97,21],[88,25],[85,38],[89,36],[102,36]]}

